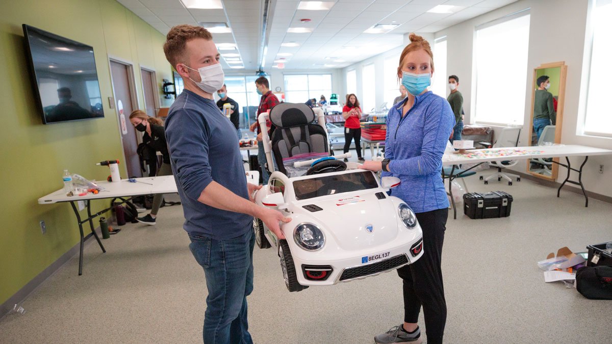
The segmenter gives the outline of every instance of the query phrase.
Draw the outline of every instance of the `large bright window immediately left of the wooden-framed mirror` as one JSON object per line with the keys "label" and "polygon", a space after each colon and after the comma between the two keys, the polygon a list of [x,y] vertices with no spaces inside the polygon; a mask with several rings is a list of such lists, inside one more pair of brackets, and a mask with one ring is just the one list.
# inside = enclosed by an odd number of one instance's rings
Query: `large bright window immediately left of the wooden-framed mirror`
{"label": "large bright window immediately left of the wooden-framed mirror", "polygon": [[529,17],[525,11],[476,28],[477,122],[523,124]]}

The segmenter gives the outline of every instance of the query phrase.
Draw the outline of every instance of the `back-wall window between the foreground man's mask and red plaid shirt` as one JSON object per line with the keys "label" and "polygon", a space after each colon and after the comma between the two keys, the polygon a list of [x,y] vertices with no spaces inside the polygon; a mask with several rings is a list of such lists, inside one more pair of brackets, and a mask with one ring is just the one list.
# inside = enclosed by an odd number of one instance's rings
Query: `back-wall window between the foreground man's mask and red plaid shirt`
{"label": "back-wall window between the foreground man's mask and red plaid shirt", "polygon": [[[257,94],[255,88],[256,75],[241,77],[225,77],[225,85],[228,89],[228,97],[236,100],[240,107],[240,127],[248,129],[248,126],[256,121],[255,116],[259,107],[261,95]],[[268,81],[270,77],[267,77]],[[215,101],[218,100],[215,94]]]}

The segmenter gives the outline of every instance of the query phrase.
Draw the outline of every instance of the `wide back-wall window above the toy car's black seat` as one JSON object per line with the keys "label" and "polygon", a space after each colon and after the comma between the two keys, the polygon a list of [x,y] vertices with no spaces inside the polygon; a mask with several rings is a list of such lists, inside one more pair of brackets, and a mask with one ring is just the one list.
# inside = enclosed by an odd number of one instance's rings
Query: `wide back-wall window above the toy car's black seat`
{"label": "wide back-wall window above the toy car's black seat", "polygon": [[285,75],[285,100],[289,103],[305,103],[321,95],[326,99],[332,94],[331,74]]}

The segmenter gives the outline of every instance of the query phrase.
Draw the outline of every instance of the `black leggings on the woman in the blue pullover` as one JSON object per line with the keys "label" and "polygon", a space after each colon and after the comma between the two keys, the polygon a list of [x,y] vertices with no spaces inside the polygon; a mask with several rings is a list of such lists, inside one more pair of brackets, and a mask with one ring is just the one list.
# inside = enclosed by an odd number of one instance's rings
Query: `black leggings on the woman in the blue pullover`
{"label": "black leggings on the woman in the blue pullover", "polygon": [[416,215],[423,230],[423,255],[413,264],[397,269],[397,274],[404,280],[404,321],[417,323],[423,306],[427,343],[442,343],[446,326],[446,299],[440,264],[449,209]]}

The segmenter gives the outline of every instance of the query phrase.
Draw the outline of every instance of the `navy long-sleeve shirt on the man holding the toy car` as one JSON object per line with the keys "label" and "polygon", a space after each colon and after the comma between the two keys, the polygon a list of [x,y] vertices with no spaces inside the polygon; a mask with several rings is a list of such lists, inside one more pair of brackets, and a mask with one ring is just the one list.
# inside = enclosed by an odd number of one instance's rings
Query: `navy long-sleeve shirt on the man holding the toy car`
{"label": "navy long-sleeve shirt on the man holding the toy car", "polygon": [[252,230],[253,217],[198,201],[212,181],[248,200],[238,134],[214,100],[184,90],[170,107],[165,127],[185,231],[225,240]]}

